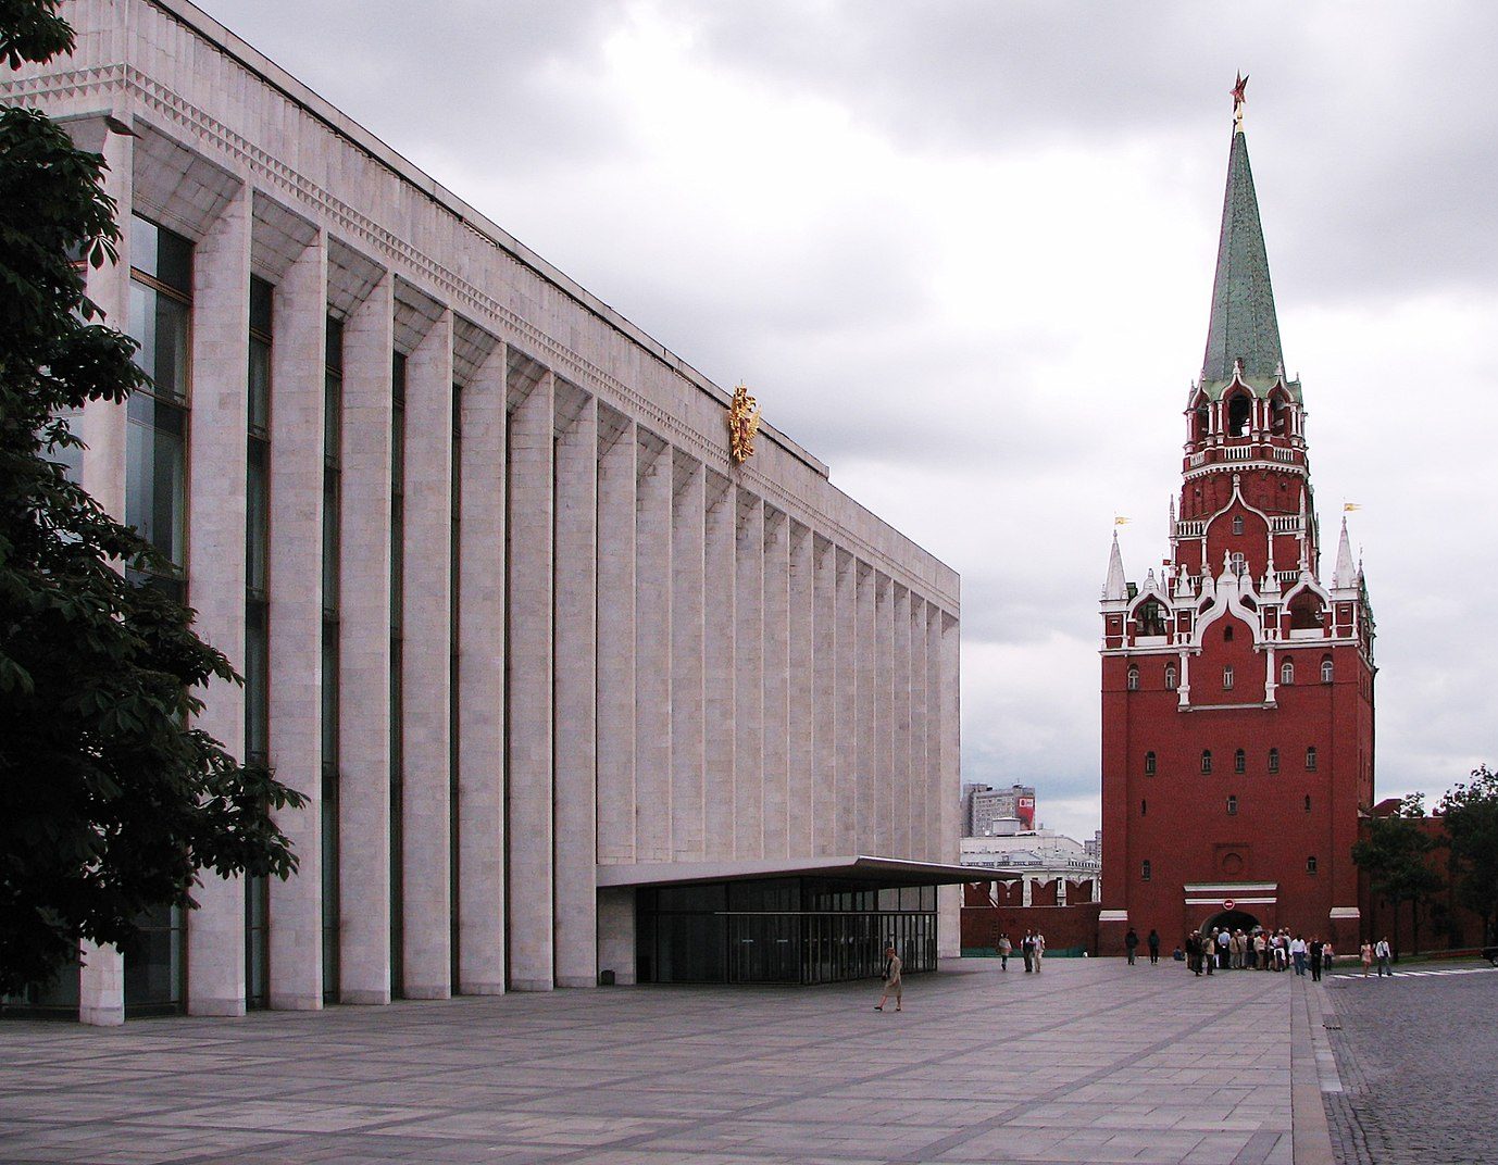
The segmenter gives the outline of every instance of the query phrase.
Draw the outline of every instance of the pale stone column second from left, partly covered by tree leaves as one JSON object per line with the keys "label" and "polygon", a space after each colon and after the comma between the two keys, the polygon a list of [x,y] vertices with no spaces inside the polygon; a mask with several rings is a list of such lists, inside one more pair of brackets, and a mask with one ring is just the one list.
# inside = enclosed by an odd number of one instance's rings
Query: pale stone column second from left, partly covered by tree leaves
{"label": "pale stone column second from left, partly covered by tree leaves", "polygon": [[[250,189],[193,253],[187,461],[187,602],[198,633],[244,663],[246,442],[250,364]],[[244,689],[214,680],[198,728],[244,756]],[[187,913],[187,1012],[244,1014],[244,883],[204,870]]]}

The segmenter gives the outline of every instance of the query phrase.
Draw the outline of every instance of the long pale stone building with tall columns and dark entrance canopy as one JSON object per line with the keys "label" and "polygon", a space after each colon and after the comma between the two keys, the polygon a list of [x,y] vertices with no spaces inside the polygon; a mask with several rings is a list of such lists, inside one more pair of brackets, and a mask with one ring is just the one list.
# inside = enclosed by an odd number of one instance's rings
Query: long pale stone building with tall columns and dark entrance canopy
{"label": "long pale stone building with tall columns and dark entrance canopy", "polygon": [[0,100],[108,160],[88,291],[154,376],[72,469],[244,672],[202,726],[309,806],[297,877],[205,877],[36,1000],[670,978],[683,888],[801,919],[803,979],[956,952],[956,574],[776,428],[736,461],[724,389],[199,9],[66,15]]}

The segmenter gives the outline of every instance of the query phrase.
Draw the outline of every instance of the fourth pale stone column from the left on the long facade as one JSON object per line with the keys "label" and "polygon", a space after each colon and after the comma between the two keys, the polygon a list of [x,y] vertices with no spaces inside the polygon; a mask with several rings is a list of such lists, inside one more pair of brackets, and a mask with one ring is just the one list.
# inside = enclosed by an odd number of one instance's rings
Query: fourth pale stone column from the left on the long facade
{"label": "fourth pale stone column from the left on the long facade", "polygon": [[343,328],[339,999],[389,1002],[389,490],[394,280]]}

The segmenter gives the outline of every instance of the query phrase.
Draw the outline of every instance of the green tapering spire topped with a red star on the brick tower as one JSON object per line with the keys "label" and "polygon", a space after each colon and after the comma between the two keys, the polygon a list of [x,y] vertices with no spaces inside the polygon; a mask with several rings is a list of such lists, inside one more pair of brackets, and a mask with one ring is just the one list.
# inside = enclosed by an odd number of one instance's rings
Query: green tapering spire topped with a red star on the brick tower
{"label": "green tapering spire topped with a red star on the brick tower", "polygon": [[1245,84],[1246,78],[1240,78],[1233,91],[1233,148],[1227,160],[1212,320],[1201,362],[1203,385],[1233,379],[1233,362],[1237,359],[1243,361],[1245,377],[1261,382],[1273,379],[1284,367],[1275,292],[1269,285],[1269,256],[1264,253],[1254,172],[1248,166],[1248,139],[1243,136]]}

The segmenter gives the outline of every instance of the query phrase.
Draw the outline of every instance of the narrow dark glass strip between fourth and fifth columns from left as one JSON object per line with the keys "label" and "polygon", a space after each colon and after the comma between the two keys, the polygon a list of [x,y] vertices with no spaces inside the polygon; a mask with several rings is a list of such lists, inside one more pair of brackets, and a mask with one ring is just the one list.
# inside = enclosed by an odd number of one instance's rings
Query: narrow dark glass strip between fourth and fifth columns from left
{"label": "narrow dark glass strip between fourth and fifth columns from left", "polygon": [[404,653],[406,609],[406,356],[391,358],[391,434],[389,434],[389,990],[403,996],[406,978],[403,876],[404,834],[404,725],[401,708],[401,659]]}

